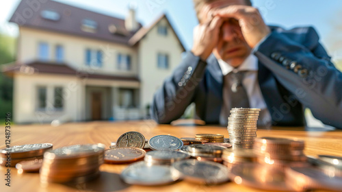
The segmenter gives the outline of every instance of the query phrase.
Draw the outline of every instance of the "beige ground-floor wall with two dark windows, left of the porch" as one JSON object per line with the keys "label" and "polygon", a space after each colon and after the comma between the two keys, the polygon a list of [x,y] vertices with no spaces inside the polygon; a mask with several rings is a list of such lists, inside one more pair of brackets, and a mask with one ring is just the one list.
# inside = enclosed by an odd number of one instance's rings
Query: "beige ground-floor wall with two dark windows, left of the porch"
{"label": "beige ground-floor wall with two dark windows, left of the porch", "polygon": [[[47,87],[47,108],[38,110],[38,86]],[[63,87],[64,108],[53,109],[53,88]],[[80,121],[83,119],[84,86],[76,77],[64,75],[14,76],[14,121],[16,123],[45,123],[54,119]]]}

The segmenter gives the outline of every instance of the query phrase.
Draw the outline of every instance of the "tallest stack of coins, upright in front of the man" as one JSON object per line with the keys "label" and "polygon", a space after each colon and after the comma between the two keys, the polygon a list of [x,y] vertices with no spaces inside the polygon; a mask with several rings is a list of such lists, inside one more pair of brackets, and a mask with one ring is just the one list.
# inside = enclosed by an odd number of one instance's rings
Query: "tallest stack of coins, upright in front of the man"
{"label": "tallest stack of coins, upright in front of the man", "polygon": [[234,148],[252,149],[257,137],[259,108],[233,108],[228,117],[228,134]]}

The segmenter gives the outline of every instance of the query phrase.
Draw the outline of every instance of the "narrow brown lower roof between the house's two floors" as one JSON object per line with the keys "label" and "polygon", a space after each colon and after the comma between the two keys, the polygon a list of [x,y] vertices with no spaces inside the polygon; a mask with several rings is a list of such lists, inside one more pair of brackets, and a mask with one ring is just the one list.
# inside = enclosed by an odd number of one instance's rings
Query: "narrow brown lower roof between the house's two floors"
{"label": "narrow brown lower roof between the house's two floors", "polygon": [[101,75],[94,73],[87,73],[86,71],[77,71],[64,63],[41,62],[34,61],[27,64],[11,64],[3,67],[2,71],[8,75],[13,73],[26,73],[29,75],[38,73],[49,73],[56,75],[73,75],[81,78],[100,79],[100,80],[119,80],[119,81],[133,81],[140,82],[137,77],[127,77],[120,75]]}

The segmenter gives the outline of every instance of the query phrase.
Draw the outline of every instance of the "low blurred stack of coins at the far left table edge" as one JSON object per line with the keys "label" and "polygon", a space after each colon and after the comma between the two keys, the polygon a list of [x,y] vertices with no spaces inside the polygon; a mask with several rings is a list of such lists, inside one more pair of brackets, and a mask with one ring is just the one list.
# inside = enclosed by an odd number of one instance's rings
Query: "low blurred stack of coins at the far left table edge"
{"label": "low blurred stack of coins at the far left table edge", "polygon": [[49,149],[52,149],[52,144],[50,143],[16,145],[1,149],[0,165],[16,167],[16,164],[22,160],[42,159],[44,152],[47,152]]}

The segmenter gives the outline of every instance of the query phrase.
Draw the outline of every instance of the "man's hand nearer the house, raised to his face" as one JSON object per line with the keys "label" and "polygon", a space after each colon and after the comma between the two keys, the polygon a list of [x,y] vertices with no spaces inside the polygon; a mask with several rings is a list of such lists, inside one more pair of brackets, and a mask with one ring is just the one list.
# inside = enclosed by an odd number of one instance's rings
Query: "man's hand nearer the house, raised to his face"
{"label": "man's hand nearer the house, raised to his face", "polygon": [[194,28],[194,46],[192,53],[202,60],[207,60],[213,48],[218,45],[220,27],[224,19],[215,16],[211,21],[202,23]]}

